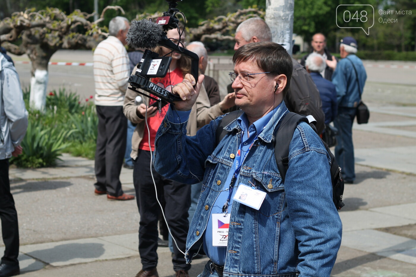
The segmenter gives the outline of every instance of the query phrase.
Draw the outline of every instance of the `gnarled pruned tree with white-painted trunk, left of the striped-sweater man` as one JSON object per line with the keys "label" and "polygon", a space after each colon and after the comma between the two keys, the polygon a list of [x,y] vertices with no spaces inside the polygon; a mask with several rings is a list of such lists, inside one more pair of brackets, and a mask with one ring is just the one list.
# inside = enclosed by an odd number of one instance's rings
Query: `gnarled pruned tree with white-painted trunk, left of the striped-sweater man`
{"label": "gnarled pruned tree with white-painted trunk, left of the striped-sweater man", "polygon": [[[7,51],[27,54],[32,62],[30,79],[30,107],[43,110],[46,103],[48,62],[58,49],[94,49],[107,36],[107,28],[99,27],[106,10],[124,11],[118,6],[106,7],[100,18],[89,21],[94,15],[75,10],[70,15],[57,8],[14,12],[0,22],[0,41]],[[20,42],[19,45],[12,42]]]}

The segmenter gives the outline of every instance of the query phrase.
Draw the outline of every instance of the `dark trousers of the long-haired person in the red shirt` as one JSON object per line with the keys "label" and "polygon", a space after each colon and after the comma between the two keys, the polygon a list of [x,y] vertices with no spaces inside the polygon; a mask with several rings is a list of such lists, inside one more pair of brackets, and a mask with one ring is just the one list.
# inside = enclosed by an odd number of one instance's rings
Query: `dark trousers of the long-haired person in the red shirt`
{"label": "dark trousers of the long-haired person in the red shirt", "polygon": [[[158,218],[161,209],[156,200],[156,191],[150,172],[150,151],[139,150],[133,161],[133,182],[137,207],[140,213],[139,253],[143,270],[157,266]],[[158,198],[165,199],[165,216],[178,247],[185,252],[188,235],[188,209],[191,205],[191,186],[164,178],[152,166]],[[173,270],[189,270],[184,255],[176,245],[173,247]]]}

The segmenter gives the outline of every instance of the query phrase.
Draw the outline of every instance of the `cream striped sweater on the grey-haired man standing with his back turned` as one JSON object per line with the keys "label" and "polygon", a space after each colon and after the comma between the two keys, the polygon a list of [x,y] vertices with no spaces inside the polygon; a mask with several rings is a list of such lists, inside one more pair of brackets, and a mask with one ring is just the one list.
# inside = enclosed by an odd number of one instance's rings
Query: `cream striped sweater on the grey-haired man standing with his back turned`
{"label": "cream striped sweater on the grey-haired man standing with his back turned", "polygon": [[95,104],[123,106],[130,76],[129,56],[121,41],[109,36],[94,51]]}

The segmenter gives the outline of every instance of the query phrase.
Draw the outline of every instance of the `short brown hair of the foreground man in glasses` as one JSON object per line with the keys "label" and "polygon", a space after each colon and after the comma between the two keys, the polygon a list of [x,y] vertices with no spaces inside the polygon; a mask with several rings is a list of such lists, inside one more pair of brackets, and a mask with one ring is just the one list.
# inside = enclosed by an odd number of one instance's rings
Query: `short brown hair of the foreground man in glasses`
{"label": "short brown hair of the foreground man in glasses", "polygon": [[265,41],[248,43],[235,51],[233,56],[234,64],[250,60],[257,62],[257,66],[264,72],[270,72],[267,73],[268,76],[286,75],[287,84],[285,89],[283,89],[283,97],[285,97],[290,87],[293,71],[292,57],[290,57],[286,49],[275,42]]}

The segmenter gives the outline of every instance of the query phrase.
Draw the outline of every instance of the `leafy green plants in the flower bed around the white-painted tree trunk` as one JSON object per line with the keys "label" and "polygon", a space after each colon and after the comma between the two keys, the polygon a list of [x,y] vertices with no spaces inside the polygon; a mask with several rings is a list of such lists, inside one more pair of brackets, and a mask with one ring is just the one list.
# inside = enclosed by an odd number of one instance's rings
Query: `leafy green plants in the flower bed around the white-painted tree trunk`
{"label": "leafy green plants in the flower bed around the white-painted tree trunk", "polygon": [[23,89],[29,111],[29,126],[22,141],[23,153],[10,162],[22,168],[54,166],[63,152],[94,158],[98,117],[89,99],[80,101],[64,88],[46,98],[46,110],[29,108],[30,89]]}

